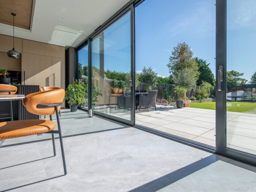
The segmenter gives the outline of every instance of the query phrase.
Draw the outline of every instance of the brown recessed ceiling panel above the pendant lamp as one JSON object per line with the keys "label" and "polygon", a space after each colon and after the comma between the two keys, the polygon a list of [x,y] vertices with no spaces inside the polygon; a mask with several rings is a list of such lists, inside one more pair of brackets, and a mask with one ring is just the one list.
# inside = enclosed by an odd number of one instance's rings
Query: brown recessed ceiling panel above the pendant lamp
{"label": "brown recessed ceiling panel above the pendant lamp", "polygon": [[33,0],[0,0],[0,7],[0,23],[13,25],[13,16],[11,13],[15,13],[15,26],[23,29],[30,29]]}

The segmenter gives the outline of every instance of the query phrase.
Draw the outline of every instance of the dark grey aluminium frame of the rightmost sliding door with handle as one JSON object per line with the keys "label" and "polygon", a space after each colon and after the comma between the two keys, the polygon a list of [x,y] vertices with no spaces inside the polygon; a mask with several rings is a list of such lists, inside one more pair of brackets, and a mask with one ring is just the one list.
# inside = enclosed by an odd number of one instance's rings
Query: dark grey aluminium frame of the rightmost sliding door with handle
{"label": "dark grey aluminium frame of the rightmost sliding door with handle", "polygon": [[[216,0],[216,153],[256,165],[256,156],[226,147],[226,68],[227,68],[227,0]],[[218,91],[218,69],[223,66],[221,91]]]}

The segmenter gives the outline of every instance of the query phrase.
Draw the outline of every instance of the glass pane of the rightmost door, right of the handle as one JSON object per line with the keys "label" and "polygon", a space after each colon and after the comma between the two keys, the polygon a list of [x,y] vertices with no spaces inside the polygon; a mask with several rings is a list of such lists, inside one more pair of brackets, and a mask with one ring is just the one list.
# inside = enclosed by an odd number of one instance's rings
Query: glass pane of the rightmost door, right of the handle
{"label": "glass pane of the rightmost door, right of the handle", "polygon": [[227,0],[226,147],[256,154],[256,1]]}

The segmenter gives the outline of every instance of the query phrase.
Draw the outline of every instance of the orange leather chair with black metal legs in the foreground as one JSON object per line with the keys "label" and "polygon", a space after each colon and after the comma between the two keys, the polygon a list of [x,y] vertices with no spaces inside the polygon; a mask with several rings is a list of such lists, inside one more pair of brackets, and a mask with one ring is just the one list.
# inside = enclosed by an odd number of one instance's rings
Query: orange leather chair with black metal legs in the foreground
{"label": "orange leather chair with black metal legs in the foreground", "polygon": [[[63,141],[61,135],[60,118],[58,111],[64,99],[65,90],[55,89],[51,91],[41,91],[31,93],[23,99],[23,105],[27,111],[37,115],[49,115],[50,120],[18,120],[0,123],[0,140],[19,138],[23,136],[36,135],[41,133],[51,133],[53,143],[53,153],[56,156],[54,133],[59,134],[60,147],[63,160],[64,174],[67,174]],[[52,114],[56,114],[58,130],[55,131],[56,124],[52,121]]]}

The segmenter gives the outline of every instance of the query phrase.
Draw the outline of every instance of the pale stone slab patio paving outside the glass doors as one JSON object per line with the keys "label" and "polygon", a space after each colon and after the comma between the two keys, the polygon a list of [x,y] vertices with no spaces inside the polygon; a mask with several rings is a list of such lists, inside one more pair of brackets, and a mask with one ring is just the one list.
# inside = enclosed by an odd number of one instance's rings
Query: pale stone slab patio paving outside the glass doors
{"label": "pale stone slab patio paving outside the glass doors", "polygon": [[[157,105],[136,110],[135,123],[215,147],[215,110]],[[227,147],[256,154],[256,114],[227,112]]]}

